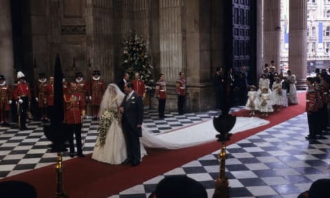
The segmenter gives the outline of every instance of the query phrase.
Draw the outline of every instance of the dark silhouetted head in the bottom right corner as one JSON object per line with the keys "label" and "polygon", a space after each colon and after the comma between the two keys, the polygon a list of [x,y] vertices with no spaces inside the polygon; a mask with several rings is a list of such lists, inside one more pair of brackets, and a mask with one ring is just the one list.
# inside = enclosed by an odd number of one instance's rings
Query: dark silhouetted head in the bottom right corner
{"label": "dark silhouetted head in the bottom right corner", "polygon": [[301,193],[297,198],[328,198],[330,197],[330,179],[316,180],[309,190]]}

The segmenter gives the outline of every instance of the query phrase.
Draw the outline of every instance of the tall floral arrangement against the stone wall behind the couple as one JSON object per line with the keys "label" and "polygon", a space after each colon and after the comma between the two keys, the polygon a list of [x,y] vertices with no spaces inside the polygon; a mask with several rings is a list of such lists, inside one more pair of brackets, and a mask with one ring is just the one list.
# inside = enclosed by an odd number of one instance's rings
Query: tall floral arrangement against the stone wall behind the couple
{"label": "tall floral arrangement against the stone wall behind the couple", "polygon": [[146,44],[142,36],[137,36],[133,31],[130,31],[129,38],[122,37],[122,70],[129,73],[131,80],[134,79],[135,72],[140,73],[146,90],[153,88],[153,66],[149,64]]}

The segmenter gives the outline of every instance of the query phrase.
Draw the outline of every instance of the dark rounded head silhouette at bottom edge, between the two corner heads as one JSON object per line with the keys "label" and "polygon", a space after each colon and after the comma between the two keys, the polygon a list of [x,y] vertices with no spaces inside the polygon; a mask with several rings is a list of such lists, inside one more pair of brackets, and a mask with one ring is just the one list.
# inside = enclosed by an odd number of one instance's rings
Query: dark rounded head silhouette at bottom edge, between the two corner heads
{"label": "dark rounded head silhouette at bottom edge, between the two corner heads", "polygon": [[204,186],[186,175],[170,175],[161,180],[148,198],[207,198]]}

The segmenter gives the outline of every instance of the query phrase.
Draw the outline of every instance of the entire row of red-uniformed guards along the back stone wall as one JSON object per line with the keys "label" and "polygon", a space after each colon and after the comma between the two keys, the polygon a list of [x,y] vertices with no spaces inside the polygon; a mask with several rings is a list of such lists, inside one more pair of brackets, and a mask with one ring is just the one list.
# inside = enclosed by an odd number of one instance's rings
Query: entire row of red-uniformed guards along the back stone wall
{"label": "entire row of red-uniformed guards along the back stone wall", "polygon": [[[134,90],[141,97],[145,97],[146,88],[142,79],[140,79],[139,73],[135,73],[135,79],[133,80]],[[10,105],[12,101],[17,104],[17,114],[19,128],[21,130],[27,129],[26,119],[27,112],[32,99],[32,94],[30,90],[30,85],[26,82],[25,75],[19,71],[17,73],[17,85],[14,86],[14,92],[12,93],[10,86],[5,83],[5,77],[0,75],[0,122],[3,126],[8,126],[8,114],[10,110]],[[123,90],[124,84],[129,82],[129,74],[124,73],[124,77],[118,86]],[[102,79],[100,79],[100,71],[93,71],[92,79],[89,83],[83,79],[83,73],[76,73],[76,79],[74,82],[74,92],[83,98],[84,103],[91,104],[91,114],[94,120],[97,120],[98,109],[100,107],[100,102],[102,101],[102,96],[105,91],[105,85]],[[70,83],[70,84],[72,84]],[[63,74],[63,94],[73,94],[70,84],[65,81],[65,76]],[[179,114],[184,114],[184,103],[186,97],[186,80],[183,72],[179,73],[179,79],[176,82],[176,90],[178,96],[178,112]],[[158,112],[159,119],[164,119],[164,110],[166,103],[166,82],[164,79],[164,74],[159,75],[159,81],[156,83],[155,96],[159,100]],[[52,120],[52,112],[54,106],[54,77],[50,77],[47,81],[45,73],[39,73],[38,82],[34,84],[34,99],[38,104],[39,114],[41,114],[41,121]],[[86,105],[84,105],[84,111]]]}

